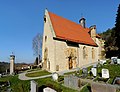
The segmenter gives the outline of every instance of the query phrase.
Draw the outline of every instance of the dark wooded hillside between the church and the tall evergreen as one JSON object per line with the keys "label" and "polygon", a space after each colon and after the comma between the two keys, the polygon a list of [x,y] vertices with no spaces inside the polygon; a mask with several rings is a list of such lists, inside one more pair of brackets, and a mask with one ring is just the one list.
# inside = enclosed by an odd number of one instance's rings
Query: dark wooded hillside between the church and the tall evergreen
{"label": "dark wooded hillside between the church and the tall evergreen", "polygon": [[105,52],[106,58],[111,58],[112,56],[118,56],[118,48],[116,47],[116,36],[115,28],[108,29],[103,33],[99,34],[103,40],[105,40]]}

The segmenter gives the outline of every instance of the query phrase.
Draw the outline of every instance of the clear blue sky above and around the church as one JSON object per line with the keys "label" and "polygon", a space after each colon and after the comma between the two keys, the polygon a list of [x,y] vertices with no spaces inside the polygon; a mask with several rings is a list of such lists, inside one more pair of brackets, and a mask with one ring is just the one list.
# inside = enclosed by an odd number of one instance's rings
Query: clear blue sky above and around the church
{"label": "clear blue sky above and around the church", "polygon": [[33,63],[32,39],[43,32],[44,10],[86,26],[106,31],[115,24],[120,0],[0,0],[0,61],[8,61],[14,52],[16,62]]}

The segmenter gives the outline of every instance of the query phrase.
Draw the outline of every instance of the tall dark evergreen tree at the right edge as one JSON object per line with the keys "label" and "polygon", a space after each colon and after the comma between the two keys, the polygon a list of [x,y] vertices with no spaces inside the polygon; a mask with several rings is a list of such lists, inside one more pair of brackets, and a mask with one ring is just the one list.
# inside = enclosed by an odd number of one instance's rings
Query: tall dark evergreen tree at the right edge
{"label": "tall dark evergreen tree at the right edge", "polygon": [[116,36],[116,46],[118,49],[118,56],[120,57],[120,4],[117,10],[116,24],[115,24],[115,36]]}

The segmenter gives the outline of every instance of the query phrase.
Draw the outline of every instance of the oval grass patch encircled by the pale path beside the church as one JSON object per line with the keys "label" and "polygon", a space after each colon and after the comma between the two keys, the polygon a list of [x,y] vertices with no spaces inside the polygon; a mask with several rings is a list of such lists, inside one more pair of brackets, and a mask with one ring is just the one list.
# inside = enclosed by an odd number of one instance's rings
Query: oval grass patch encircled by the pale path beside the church
{"label": "oval grass patch encircled by the pale path beside the church", "polygon": [[49,75],[49,74],[51,73],[45,70],[41,70],[41,71],[37,71],[33,73],[27,73],[26,76],[27,77],[39,77],[39,76],[44,76],[44,75]]}

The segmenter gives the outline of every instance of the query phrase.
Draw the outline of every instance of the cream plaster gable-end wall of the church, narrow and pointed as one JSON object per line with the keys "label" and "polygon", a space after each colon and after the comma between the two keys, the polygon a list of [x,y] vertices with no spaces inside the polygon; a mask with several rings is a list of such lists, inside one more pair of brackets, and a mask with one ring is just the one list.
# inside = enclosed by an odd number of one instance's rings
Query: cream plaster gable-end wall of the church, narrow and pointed
{"label": "cream plaster gable-end wall of the church, narrow and pointed", "polygon": [[[43,33],[43,46],[42,46],[42,62],[44,62],[44,51],[45,48],[48,49],[48,61],[50,62],[50,71],[55,70],[55,58],[54,58],[54,40],[53,40],[53,29],[50,21],[50,17],[48,15],[47,10],[45,11],[46,15],[46,23],[44,23],[44,33]],[[45,36],[47,36],[45,42]]]}

